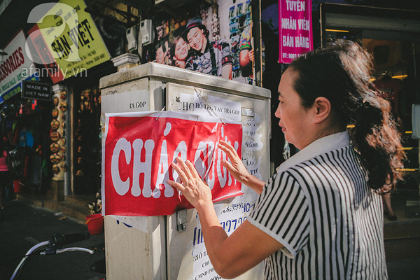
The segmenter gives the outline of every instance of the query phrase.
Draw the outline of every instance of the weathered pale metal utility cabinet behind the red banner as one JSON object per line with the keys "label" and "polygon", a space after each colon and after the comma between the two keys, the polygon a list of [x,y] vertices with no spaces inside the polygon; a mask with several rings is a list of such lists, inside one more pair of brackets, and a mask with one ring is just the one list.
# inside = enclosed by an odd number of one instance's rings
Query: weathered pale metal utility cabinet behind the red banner
{"label": "weathered pale metal utility cabinet behind the red banner", "polygon": [[[269,179],[269,90],[173,66],[148,63],[103,77],[102,113],[181,111],[220,116],[243,123],[242,160],[248,171]],[[230,235],[252,209],[258,195],[215,204]],[[221,279],[214,272],[195,209],[171,216],[105,217],[106,278]],[[237,279],[260,279],[258,265]]]}

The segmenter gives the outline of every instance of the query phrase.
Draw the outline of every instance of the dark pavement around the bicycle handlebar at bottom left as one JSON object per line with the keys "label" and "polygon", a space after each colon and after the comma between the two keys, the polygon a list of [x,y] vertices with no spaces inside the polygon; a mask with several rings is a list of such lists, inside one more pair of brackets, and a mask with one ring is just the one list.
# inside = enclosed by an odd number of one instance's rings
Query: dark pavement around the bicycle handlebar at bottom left
{"label": "dark pavement around the bicycle handlebar at bottom left", "polygon": [[[22,256],[35,244],[46,241],[54,233],[63,235],[86,232],[83,221],[62,216],[46,208],[36,207],[18,200],[6,202],[4,220],[0,222],[0,280],[8,280]],[[105,274],[90,271],[91,265],[105,256],[104,232],[90,239],[64,247],[85,247],[94,254],[71,251],[58,255],[35,255],[29,258],[18,279],[31,280],[97,280]]]}

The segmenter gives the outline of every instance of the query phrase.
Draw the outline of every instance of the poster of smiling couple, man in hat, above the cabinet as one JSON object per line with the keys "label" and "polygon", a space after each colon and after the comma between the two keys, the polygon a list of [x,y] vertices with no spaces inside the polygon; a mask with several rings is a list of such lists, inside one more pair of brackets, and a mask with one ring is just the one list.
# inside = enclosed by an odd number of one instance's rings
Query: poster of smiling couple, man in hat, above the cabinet
{"label": "poster of smiling couple, man in hat, above the cabinet", "polygon": [[252,84],[251,0],[216,2],[200,14],[158,18],[153,61]]}

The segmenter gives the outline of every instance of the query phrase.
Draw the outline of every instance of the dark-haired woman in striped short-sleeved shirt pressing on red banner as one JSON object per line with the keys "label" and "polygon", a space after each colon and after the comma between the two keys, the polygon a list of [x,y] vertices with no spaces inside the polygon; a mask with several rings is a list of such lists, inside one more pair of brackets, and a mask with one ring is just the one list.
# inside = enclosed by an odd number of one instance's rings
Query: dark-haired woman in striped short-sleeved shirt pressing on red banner
{"label": "dark-haired woman in striped short-sleeved shirt pressing on red banner", "polygon": [[211,190],[191,162],[177,158],[172,166],[182,184],[168,183],[197,209],[220,276],[234,278],[265,260],[265,279],[387,278],[380,195],[399,179],[395,168],[402,167],[403,155],[388,103],[370,90],[371,65],[370,55],[351,41],[336,41],[290,64],[275,115],[300,152],[267,183],[251,176],[235,149],[220,142],[230,158],[223,165],[260,194],[229,237]]}

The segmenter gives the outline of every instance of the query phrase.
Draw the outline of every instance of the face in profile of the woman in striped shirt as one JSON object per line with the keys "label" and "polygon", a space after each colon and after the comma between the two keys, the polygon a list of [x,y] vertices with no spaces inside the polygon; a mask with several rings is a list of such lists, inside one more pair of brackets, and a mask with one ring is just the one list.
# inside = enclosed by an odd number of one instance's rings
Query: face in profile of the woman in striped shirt
{"label": "face in profile of the woman in striped shirt", "polygon": [[297,71],[287,69],[281,76],[279,84],[279,106],[275,116],[279,118],[279,126],[286,141],[302,150],[308,144],[305,130],[309,128],[309,109],[302,106],[302,99],[293,88]]}

